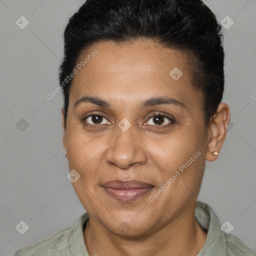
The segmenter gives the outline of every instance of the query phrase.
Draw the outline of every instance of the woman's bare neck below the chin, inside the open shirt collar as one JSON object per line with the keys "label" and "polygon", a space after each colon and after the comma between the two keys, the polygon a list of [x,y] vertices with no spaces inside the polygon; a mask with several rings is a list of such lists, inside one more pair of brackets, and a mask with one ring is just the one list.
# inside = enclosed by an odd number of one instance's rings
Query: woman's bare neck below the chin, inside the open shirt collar
{"label": "woman's bare neck below the chin, inside the open shirt collar", "polygon": [[83,230],[84,242],[89,255],[93,256],[197,255],[205,243],[207,233],[195,219],[194,208],[191,210],[158,230],[139,237],[115,235],[100,223],[89,219]]}

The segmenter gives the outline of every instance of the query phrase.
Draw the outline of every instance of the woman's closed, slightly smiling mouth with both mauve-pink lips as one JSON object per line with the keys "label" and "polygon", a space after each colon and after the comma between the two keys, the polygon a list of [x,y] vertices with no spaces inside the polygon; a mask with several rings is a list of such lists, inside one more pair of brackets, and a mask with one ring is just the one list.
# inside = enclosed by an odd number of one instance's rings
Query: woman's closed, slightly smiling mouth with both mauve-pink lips
{"label": "woman's closed, slightly smiling mouth with both mauve-pink lips", "polygon": [[133,201],[150,191],[154,186],[138,180],[111,180],[101,184],[105,192],[119,201]]}

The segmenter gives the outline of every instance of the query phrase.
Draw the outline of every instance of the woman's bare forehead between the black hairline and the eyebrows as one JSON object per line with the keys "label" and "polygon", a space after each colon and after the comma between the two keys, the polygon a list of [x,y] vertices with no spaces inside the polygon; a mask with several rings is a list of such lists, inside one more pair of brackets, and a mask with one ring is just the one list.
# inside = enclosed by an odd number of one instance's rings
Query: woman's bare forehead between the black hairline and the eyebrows
{"label": "woman's bare forehead between the black hairline and the eyebrows", "polygon": [[201,95],[192,86],[189,63],[186,53],[152,40],[94,43],[77,59],[70,101],[84,94],[127,102],[160,94],[187,102],[197,97],[201,103]]}

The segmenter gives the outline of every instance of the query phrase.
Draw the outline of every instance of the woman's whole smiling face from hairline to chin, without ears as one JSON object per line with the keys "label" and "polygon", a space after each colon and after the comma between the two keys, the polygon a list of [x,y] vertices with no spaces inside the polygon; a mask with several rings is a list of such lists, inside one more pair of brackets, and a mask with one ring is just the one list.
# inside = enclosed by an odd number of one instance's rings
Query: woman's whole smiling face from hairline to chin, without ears
{"label": "woman's whole smiling face from hairline to chin, without ears", "polygon": [[73,78],[63,144],[90,219],[138,236],[193,215],[208,133],[187,56],[150,40],[95,43],[77,63],[88,54]]}

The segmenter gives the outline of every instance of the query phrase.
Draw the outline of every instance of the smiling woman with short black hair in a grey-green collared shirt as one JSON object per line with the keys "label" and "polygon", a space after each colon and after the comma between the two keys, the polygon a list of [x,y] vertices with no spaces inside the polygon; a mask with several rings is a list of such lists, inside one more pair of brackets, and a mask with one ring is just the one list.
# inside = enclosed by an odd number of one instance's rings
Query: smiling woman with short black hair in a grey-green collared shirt
{"label": "smiling woman with short black hair in a grey-green collared shirt", "polygon": [[256,255],[196,201],[230,119],[200,0],[87,0],[64,32],[63,146],[86,213],[14,255]]}

